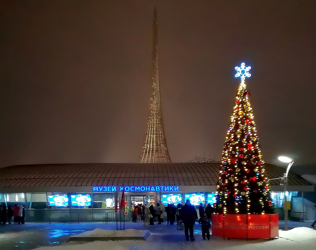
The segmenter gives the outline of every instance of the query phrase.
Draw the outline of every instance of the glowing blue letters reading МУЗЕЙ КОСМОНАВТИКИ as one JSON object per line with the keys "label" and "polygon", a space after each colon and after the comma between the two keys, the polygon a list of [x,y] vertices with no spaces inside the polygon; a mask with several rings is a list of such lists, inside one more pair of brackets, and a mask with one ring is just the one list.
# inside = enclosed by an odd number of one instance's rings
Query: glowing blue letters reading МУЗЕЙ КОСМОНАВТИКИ
{"label": "glowing blue letters reading \u041c\u0423\u0417\u0415\u0419 \u041a\u041e\u0421\u041c\u041e\u041d\u0410\u0412\u0422\u0418\u041a\u0418", "polygon": [[[179,186],[120,186],[118,191],[122,192],[169,192],[179,191]],[[93,192],[116,192],[116,186],[94,186]]]}

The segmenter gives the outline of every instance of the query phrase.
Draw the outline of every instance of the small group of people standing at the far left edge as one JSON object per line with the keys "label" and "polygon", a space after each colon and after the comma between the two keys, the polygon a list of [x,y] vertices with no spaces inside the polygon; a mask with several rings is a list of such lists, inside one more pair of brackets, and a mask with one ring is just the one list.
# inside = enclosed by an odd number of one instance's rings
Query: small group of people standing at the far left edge
{"label": "small group of people standing at the far left edge", "polygon": [[24,224],[25,207],[23,205],[0,205],[0,224],[12,224],[12,217],[14,224]]}

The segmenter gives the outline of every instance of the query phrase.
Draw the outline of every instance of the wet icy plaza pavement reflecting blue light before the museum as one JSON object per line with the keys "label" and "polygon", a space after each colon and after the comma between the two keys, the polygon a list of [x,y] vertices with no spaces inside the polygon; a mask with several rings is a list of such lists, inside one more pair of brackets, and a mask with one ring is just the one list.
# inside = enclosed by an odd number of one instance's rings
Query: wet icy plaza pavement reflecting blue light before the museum
{"label": "wet icy plaza pavement reflecting blue light before the museum", "polygon": [[[289,221],[288,228],[310,228],[311,221]],[[279,222],[284,229],[284,221]],[[53,246],[68,240],[69,236],[90,231],[96,228],[116,230],[116,223],[26,223],[24,225],[0,225],[0,245],[6,250],[30,250],[40,246]],[[176,225],[143,226],[142,222],[125,222],[125,229],[149,230],[151,241],[178,242],[184,241],[184,231],[176,229]],[[201,226],[194,226],[195,238],[202,241]]]}

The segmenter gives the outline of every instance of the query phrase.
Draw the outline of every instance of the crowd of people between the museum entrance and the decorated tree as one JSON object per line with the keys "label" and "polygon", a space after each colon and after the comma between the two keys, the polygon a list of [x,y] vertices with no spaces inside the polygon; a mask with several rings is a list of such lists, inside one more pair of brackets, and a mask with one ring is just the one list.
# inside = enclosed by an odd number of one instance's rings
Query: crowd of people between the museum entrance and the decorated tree
{"label": "crowd of people between the museum entrance and the decorated tree", "polygon": [[143,221],[144,226],[157,225],[164,223],[164,217],[167,215],[167,225],[174,225],[177,221],[177,225],[183,223],[185,238],[188,241],[189,236],[191,241],[195,241],[193,235],[193,226],[196,222],[201,224],[203,240],[210,239],[210,227],[211,216],[214,213],[214,208],[209,203],[204,210],[203,203],[199,206],[199,217],[195,206],[190,203],[190,200],[186,200],[185,204],[179,203],[175,206],[173,203],[164,206],[157,203],[150,205],[137,204],[132,208],[132,222]]}

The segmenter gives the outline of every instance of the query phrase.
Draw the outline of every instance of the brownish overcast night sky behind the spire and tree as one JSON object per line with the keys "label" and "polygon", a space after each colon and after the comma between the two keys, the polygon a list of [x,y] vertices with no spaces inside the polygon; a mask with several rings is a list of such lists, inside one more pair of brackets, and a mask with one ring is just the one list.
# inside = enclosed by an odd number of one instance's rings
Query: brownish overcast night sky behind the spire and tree
{"label": "brownish overcast night sky behind the spire and tree", "polygon": [[263,160],[316,163],[314,1],[1,1],[0,167],[138,162],[155,6],[172,162],[221,159],[245,62]]}

